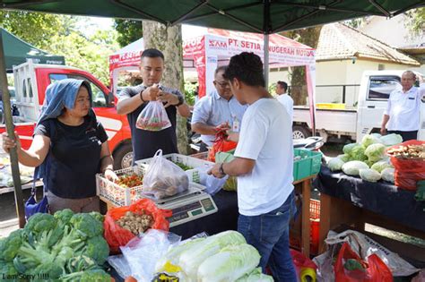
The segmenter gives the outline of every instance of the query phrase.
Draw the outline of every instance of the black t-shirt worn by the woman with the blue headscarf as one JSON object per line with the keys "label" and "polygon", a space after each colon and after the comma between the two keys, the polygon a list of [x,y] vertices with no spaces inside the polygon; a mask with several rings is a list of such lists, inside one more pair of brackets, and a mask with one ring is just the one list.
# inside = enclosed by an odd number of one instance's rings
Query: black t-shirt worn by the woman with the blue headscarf
{"label": "black t-shirt worn by the woman with the blue headscarf", "polygon": [[108,140],[103,126],[89,117],[77,126],[48,119],[37,126],[34,134],[50,138],[43,179],[48,191],[66,199],[95,196],[100,149],[102,143]]}

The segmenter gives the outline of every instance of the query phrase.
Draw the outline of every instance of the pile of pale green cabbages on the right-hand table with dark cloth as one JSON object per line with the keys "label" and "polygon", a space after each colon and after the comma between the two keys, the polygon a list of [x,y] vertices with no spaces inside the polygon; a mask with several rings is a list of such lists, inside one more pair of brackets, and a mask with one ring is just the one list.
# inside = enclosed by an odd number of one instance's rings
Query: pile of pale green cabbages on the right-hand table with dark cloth
{"label": "pile of pale green cabbages on the right-hand table with dark cloth", "polygon": [[394,167],[386,156],[386,148],[403,141],[398,134],[381,136],[378,133],[365,135],[361,143],[343,147],[343,155],[331,158],[327,167],[332,171],[343,170],[346,175],[360,175],[360,178],[377,182],[383,179],[394,184]]}

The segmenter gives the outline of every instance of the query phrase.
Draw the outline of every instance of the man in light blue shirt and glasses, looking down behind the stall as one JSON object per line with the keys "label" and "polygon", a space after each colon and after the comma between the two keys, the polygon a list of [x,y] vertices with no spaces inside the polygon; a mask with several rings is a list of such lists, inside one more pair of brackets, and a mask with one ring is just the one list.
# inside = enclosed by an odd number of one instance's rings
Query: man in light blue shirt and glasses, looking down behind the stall
{"label": "man in light blue shirt and glasses, looking down behind the stall", "polygon": [[221,130],[239,132],[242,116],[247,109],[233,97],[229,81],[223,77],[225,71],[225,65],[215,70],[215,90],[201,98],[194,107],[192,131],[201,134],[201,152],[212,147],[215,133]]}

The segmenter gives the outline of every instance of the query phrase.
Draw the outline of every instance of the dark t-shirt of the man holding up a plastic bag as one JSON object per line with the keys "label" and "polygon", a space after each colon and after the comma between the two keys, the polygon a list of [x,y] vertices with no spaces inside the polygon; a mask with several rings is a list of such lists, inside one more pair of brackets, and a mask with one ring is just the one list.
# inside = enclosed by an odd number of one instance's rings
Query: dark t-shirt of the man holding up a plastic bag
{"label": "dark t-shirt of the man holding up a plastic bag", "polygon": [[[119,96],[120,98],[134,97],[135,95],[140,95],[140,92],[144,89],[145,87],[142,84],[135,87],[128,87],[122,90]],[[163,86],[161,89],[174,95],[183,96],[178,90]],[[134,160],[152,158],[157,150],[162,150],[164,155],[178,153],[178,142],[176,135],[177,107],[169,106],[165,108],[171,123],[169,128],[159,132],[151,132],[135,127],[137,117],[143,111],[143,108],[147,105],[147,102],[143,103],[141,107],[136,108],[134,112],[127,115],[128,124],[130,125],[132,134]]]}

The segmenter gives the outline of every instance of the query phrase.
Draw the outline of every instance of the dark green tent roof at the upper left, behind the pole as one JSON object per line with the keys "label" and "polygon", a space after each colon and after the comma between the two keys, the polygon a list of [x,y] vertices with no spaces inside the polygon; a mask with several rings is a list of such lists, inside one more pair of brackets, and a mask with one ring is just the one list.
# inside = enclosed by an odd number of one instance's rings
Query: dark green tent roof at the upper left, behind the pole
{"label": "dark green tent roof at the upper left, behind the pole", "polygon": [[8,72],[12,71],[13,65],[25,63],[27,59],[34,60],[36,64],[65,64],[64,56],[50,55],[15,37],[6,30],[0,30],[2,32],[6,70]]}

